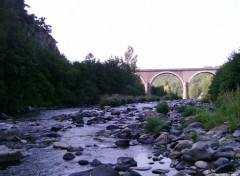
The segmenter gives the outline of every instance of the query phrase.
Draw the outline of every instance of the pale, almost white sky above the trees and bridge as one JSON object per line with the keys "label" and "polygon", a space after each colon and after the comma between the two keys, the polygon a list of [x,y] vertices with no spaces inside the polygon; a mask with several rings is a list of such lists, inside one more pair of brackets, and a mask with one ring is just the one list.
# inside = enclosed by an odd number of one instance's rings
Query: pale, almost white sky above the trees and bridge
{"label": "pale, almost white sky above the trees and bridge", "polygon": [[219,66],[240,48],[240,0],[25,0],[46,17],[70,61],[88,53],[123,57],[139,68]]}

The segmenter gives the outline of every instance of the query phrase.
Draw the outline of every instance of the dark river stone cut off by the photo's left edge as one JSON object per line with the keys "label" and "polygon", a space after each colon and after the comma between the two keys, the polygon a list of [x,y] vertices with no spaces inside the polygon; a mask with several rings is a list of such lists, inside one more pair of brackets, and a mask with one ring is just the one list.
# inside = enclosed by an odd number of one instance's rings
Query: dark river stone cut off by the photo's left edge
{"label": "dark river stone cut off by the photo's left edge", "polygon": [[22,157],[20,150],[12,150],[5,145],[0,145],[0,163],[19,161]]}

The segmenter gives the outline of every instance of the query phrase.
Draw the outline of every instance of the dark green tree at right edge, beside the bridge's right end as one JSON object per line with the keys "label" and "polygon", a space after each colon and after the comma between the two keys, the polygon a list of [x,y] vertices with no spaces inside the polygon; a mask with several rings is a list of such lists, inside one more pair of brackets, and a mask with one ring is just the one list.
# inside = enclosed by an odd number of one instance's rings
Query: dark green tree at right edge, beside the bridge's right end
{"label": "dark green tree at right edge, beside the bridge's right end", "polygon": [[210,98],[217,100],[225,92],[235,91],[240,85],[240,53],[233,53],[216,72],[209,88]]}

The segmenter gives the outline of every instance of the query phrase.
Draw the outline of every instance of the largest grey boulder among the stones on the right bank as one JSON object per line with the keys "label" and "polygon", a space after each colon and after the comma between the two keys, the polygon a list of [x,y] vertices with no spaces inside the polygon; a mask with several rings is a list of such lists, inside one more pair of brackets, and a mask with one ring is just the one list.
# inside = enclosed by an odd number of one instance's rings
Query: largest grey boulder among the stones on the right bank
{"label": "largest grey boulder among the stones on the right bank", "polygon": [[208,142],[199,141],[193,144],[191,149],[186,149],[182,158],[187,161],[211,161],[214,153]]}

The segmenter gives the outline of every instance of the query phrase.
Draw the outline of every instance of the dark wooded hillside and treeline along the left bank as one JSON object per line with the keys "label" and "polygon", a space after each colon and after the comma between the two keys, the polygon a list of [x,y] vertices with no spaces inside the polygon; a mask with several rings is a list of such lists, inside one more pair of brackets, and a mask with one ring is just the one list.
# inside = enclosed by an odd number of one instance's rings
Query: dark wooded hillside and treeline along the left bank
{"label": "dark wooded hillside and treeline along the left bank", "polygon": [[144,94],[134,68],[117,57],[69,62],[45,18],[28,14],[26,7],[24,0],[0,1],[0,112],[93,105],[104,94]]}

